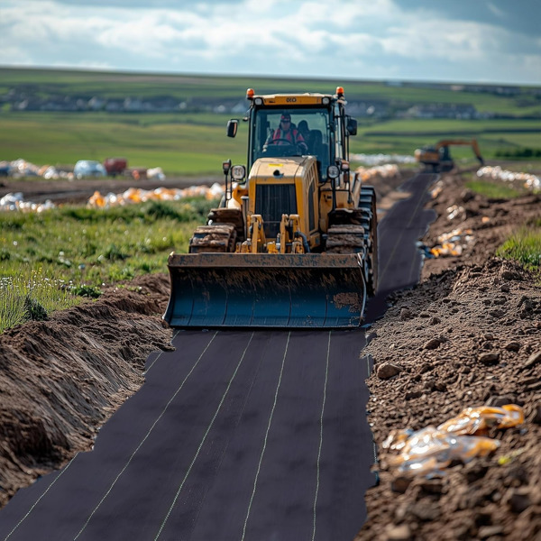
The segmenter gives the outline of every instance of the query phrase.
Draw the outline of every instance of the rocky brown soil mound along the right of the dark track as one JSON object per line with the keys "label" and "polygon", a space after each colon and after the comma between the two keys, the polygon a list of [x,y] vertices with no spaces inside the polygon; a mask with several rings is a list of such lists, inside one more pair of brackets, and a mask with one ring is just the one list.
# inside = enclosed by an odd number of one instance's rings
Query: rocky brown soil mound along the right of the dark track
{"label": "rocky brown soil mound along the right of the dark track", "polygon": [[[460,175],[442,183],[424,243],[436,246],[455,228],[472,229],[473,239],[461,256],[426,259],[424,281],[390,298],[371,328],[367,408],[381,482],[367,492],[369,520],[356,541],[541,539],[541,288],[538,277],[494,257],[515,227],[538,215],[539,197],[473,196]],[[462,210],[450,218],[454,206]],[[391,430],[509,403],[524,408],[526,421],[492,431],[496,454],[434,479],[412,481],[388,465],[382,444]]]}

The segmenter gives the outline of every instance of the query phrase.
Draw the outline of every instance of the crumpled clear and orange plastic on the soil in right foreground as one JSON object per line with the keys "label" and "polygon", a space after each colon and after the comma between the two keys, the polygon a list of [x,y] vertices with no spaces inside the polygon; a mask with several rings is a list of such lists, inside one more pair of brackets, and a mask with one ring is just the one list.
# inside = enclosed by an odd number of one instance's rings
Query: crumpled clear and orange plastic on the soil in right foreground
{"label": "crumpled clear and orange plastic on the soil in right foreground", "polygon": [[392,431],[382,446],[400,452],[387,460],[402,474],[441,475],[455,460],[468,463],[498,449],[500,441],[486,436],[491,428],[509,428],[523,422],[524,412],[515,404],[465,408],[437,427],[426,426],[416,432]]}

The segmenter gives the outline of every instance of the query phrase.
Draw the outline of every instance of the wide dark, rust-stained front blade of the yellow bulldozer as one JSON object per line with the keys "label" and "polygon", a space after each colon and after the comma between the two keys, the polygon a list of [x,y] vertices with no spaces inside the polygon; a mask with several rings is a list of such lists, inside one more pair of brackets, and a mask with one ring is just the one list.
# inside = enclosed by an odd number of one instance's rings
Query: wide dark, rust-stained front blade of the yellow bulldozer
{"label": "wide dark, rust-stained front blade of the yellow bulldozer", "polygon": [[170,255],[164,319],[178,327],[355,327],[366,300],[357,254]]}

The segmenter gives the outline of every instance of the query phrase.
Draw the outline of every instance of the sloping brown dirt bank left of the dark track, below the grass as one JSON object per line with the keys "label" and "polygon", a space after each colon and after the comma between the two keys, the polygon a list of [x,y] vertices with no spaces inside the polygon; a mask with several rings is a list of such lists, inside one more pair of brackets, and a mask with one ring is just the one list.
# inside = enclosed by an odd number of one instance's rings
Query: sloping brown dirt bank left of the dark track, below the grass
{"label": "sloping brown dirt bank left of the dark track, below the grass", "polygon": [[92,447],[97,428],[168,350],[165,275],[0,335],[0,505],[38,475]]}

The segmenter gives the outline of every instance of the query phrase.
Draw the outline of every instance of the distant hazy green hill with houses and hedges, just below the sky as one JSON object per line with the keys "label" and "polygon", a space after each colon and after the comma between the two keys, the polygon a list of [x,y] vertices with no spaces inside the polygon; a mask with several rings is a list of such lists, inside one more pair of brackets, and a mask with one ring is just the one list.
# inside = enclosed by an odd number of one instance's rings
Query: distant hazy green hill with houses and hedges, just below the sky
{"label": "distant hazy green hill with houses and hedges, just below the sky", "polygon": [[3,111],[241,113],[247,87],[332,94],[343,86],[360,118],[541,118],[541,87],[26,68],[0,68],[0,81]]}

